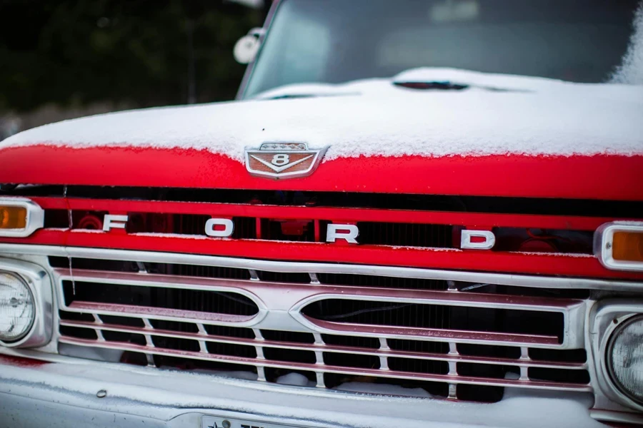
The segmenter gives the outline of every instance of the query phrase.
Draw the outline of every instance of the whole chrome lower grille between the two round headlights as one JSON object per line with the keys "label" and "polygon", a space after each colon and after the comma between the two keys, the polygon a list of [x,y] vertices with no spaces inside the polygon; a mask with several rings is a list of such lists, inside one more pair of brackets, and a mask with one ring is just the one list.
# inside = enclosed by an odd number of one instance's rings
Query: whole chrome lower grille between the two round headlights
{"label": "whole chrome lower grille between the two round headlights", "polygon": [[[169,257],[72,258],[72,268],[55,268],[60,352],[69,345],[118,350],[118,362],[232,368],[269,382],[296,372],[317,387],[419,385],[477,401],[497,401],[504,387],[592,390],[586,300],[502,287],[519,277],[476,282],[473,272],[189,255],[181,257],[190,264],[168,265]],[[119,271],[132,263],[139,271]],[[284,278],[290,281],[278,282]]]}

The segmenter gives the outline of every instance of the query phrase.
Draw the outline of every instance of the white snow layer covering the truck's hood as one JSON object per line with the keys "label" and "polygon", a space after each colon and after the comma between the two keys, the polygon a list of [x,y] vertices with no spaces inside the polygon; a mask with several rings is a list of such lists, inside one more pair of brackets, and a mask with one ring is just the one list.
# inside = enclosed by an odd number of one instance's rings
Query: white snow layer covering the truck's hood
{"label": "white snow layer covering the truck's hood", "polygon": [[[450,81],[462,91],[394,82]],[[492,89],[492,90],[489,90]],[[314,96],[290,98],[297,96]],[[286,98],[286,99],[269,99]],[[448,68],[392,79],[294,85],[251,101],[149,108],[53,123],[1,148],[196,148],[243,161],[246,146],[301,141],[356,156],[643,154],[643,86],[581,84]]]}

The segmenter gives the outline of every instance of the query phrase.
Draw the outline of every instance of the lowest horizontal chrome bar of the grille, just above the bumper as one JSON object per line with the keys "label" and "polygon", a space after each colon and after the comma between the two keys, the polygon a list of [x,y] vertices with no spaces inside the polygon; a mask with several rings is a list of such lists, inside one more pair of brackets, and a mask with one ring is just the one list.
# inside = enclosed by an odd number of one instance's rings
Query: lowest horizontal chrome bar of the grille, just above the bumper
{"label": "lowest horizontal chrome bar of the grille, just above the bumper", "polygon": [[305,370],[309,372],[353,374],[357,376],[389,377],[395,379],[415,379],[425,380],[429,382],[447,382],[449,384],[484,384],[497,387],[524,387],[533,389],[555,389],[559,391],[592,391],[592,387],[589,384],[570,384],[520,379],[489,379],[482,377],[454,376],[451,374],[397,372],[394,370],[337,367],[331,365],[319,365],[301,362],[286,363],[271,360],[259,360],[247,357],[234,357],[230,355],[208,354],[205,352],[167,350],[159,347],[133,345],[123,342],[99,342],[96,340],[76,339],[71,337],[61,337],[60,342],[67,343],[69,345],[78,345],[84,347],[101,347],[104,349],[141,352],[153,355],[166,355],[169,357],[189,357],[196,360],[231,362],[234,364],[251,365],[256,367],[274,367],[286,370]]}

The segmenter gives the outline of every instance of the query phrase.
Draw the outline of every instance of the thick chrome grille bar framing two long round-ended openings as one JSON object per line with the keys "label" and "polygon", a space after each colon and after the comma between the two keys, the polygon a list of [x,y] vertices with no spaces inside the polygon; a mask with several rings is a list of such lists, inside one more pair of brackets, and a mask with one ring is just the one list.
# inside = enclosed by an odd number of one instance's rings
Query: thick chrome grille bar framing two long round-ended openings
{"label": "thick chrome grille bar framing two long round-ended openings", "polygon": [[[94,270],[56,269],[59,277],[60,294],[64,296],[61,309],[69,312],[92,312],[99,315],[126,314],[133,317],[155,320],[176,320],[201,322],[210,325],[236,325],[237,327],[269,328],[329,334],[349,334],[364,337],[387,337],[429,341],[453,341],[462,343],[488,343],[530,347],[577,347],[581,337],[575,335],[576,325],[582,322],[584,302],[574,299],[548,297],[527,297],[519,295],[494,295],[479,292],[432,291],[386,289],[381,287],[353,287],[323,285],[319,283],[289,284],[256,280],[224,280],[204,277],[179,277],[147,273],[100,272]],[[70,290],[64,290],[66,281],[94,284],[96,290],[102,285],[128,285],[146,290],[148,288],[178,288],[235,292],[256,304],[259,312],[254,316],[245,314],[203,313],[190,310],[176,311],[169,308],[141,307],[136,303],[109,305],[103,302],[71,302]],[[98,292],[98,291],[96,291]],[[537,332],[507,332],[467,328],[439,328],[431,325],[364,325],[347,322],[329,322],[314,319],[304,310],[315,302],[324,300],[346,300],[351,302],[397,302],[402,305],[416,305],[442,308],[467,308],[469,310],[514,310],[525,311],[531,317],[558,314],[559,321],[551,334]],[[271,317],[266,317],[270,308]],[[486,313],[486,312],[485,312]],[[489,312],[491,314],[492,312]],[[516,312],[520,313],[520,312]],[[244,315],[244,316],[240,316]],[[549,315],[547,315],[549,317]],[[552,327],[553,328],[553,327]],[[463,331],[464,330],[464,331]]]}

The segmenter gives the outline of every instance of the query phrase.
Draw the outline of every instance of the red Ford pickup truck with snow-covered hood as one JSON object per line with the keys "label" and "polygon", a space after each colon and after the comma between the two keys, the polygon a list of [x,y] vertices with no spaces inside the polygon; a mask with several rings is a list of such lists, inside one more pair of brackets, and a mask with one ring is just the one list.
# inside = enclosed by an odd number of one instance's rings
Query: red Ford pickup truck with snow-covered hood
{"label": "red Ford pickup truck with snow-covered hood", "polygon": [[643,424],[643,6],[281,0],[238,100],[0,143],[0,424]]}

